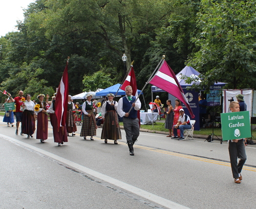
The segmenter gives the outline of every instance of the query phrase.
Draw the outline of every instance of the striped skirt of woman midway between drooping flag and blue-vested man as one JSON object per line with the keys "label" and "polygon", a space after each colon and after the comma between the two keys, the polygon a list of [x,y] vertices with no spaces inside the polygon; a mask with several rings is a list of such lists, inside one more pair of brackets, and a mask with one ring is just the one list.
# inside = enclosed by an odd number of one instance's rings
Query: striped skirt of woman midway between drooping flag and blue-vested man
{"label": "striped skirt of woman midway between drooping flag and blue-vested man", "polygon": [[96,120],[95,120],[95,114],[92,112],[92,110],[87,110],[89,114],[92,113],[91,117],[88,117],[88,115],[83,115],[83,121],[82,121],[82,129],[80,136],[95,136],[96,135]]}

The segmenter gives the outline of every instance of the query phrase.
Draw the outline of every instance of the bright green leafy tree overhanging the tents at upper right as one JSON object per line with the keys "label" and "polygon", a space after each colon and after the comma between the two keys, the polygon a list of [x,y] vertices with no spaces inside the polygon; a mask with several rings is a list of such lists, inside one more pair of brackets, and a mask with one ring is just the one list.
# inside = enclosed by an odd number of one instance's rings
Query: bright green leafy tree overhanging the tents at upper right
{"label": "bright green leafy tree overhanging the tents at upper right", "polygon": [[228,88],[255,86],[255,1],[202,1],[194,39],[200,50],[188,60],[205,74],[200,87],[209,88],[216,81]]}

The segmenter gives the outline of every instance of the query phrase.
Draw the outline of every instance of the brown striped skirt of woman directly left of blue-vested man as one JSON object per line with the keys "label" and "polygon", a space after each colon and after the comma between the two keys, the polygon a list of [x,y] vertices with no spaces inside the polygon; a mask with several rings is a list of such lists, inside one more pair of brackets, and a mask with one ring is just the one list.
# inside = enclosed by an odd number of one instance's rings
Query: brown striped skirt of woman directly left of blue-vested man
{"label": "brown striped skirt of woman directly left of blue-vested man", "polygon": [[106,140],[121,140],[121,131],[115,110],[107,111],[101,132],[101,138]]}

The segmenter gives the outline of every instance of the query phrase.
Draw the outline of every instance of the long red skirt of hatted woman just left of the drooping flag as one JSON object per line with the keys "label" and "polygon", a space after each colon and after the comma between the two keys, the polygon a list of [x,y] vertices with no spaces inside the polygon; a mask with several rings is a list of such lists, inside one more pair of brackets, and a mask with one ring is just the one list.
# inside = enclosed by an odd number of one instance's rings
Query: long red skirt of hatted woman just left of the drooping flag
{"label": "long red skirt of hatted woman just left of the drooping flag", "polygon": [[42,112],[37,114],[36,138],[38,140],[47,140],[48,138],[48,115]]}

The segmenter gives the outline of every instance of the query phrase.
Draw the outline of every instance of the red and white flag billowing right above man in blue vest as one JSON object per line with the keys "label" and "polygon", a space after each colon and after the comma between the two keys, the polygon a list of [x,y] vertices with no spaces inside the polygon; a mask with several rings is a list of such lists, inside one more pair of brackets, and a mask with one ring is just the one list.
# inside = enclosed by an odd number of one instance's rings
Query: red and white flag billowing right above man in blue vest
{"label": "red and white flag billowing right above man in blue vest", "polygon": [[170,66],[167,64],[165,60],[158,69],[158,72],[151,79],[150,83],[157,86],[158,88],[165,90],[174,97],[178,98],[181,102],[183,102],[186,105],[191,115],[191,118],[195,118],[195,115],[193,114],[193,111],[190,108],[190,105],[184,95],[184,92],[180,86],[179,81],[176,78],[176,75],[174,74],[173,70],[170,68]]}

